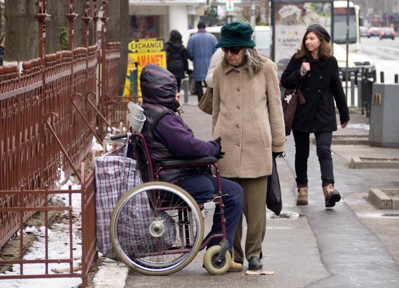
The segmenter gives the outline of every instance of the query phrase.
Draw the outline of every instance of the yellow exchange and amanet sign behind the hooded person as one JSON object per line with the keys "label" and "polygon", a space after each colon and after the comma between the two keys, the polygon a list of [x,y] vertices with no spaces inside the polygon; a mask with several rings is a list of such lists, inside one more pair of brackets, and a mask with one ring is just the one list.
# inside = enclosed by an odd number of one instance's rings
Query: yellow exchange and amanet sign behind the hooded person
{"label": "yellow exchange and amanet sign behind the hooded person", "polygon": [[142,38],[135,39],[129,43],[128,69],[125,79],[125,95],[129,94],[130,70],[138,62],[138,96],[141,96],[140,74],[147,64],[157,64],[166,69],[166,51],[164,38]]}

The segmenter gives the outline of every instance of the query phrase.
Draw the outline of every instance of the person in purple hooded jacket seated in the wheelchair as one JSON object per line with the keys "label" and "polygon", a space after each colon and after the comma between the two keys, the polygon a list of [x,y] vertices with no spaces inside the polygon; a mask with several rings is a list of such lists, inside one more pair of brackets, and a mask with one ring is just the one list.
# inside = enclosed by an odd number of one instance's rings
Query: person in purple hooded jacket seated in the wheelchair
{"label": "person in purple hooded jacket seated in the wheelchair", "polygon": [[[200,157],[223,157],[220,138],[216,141],[201,141],[180,117],[179,92],[175,76],[168,70],[155,65],[146,65],[140,76],[144,114],[147,117],[141,133],[147,141],[154,173],[161,161],[192,160]],[[179,167],[162,170],[160,180],[176,184],[190,193],[197,202],[212,198],[217,192],[216,177],[206,167]],[[232,244],[238,220],[242,213],[243,190],[233,181],[221,178],[224,216],[228,250]],[[221,231],[218,206],[213,216],[211,231],[206,237]],[[220,238],[213,238],[208,248],[219,245]],[[241,271],[242,265],[231,261],[229,272]]]}

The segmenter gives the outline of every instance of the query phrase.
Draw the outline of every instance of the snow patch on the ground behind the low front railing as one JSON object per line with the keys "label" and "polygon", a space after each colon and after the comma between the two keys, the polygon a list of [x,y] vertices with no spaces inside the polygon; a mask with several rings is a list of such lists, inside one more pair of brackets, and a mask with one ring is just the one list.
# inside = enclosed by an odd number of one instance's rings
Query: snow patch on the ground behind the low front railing
{"label": "snow patch on the ground behind the low front railing", "polygon": [[[67,182],[60,187],[62,190],[67,190],[71,186],[72,190],[80,189],[80,185],[73,184],[74,177],[71,176]],[[69,206],[69,196],[67,193],[55,194],[51,198],[51,202],[63,201],[65,206]],[[73,267],[81,265],[82,257],[82,240],[79,230],[81,229],[81,194],[72,194],[72,214],[75,216],[74,223],[72,224],[72,258]],[[70,242],[69,242],[69,216],[68,212],[64,215],[66,219],[63,223],[51,225],[51,229],[47,229],[48,234],[48,259],[69,259],[70,258]],[[29,248],[23,259],[25,260],[39,260],[45,259],[45,227],[26,227],[23,230],[23,234],[33,234],[36,237],[36,241]],[[18,232],[19,234],[19,232]],[[18,235],[17,234],[17,235]],[[19,236],[19,235],[18,235]],[[69,263],[60,264],[49,264],[48,274],[55,274],[51,269],[69,269]],[[81,271],[75,272],[81,274]],[[5,272],[7,275],[19,275],[20,265],[13,265],[12,271]],[[24,264],[23,265],[24,275],[42,275],[45,274],[45,264]],[[70,288],[77,287],[81,284],[81,278],[40,278],[40,279],[12,279],[4,280],[1,279],[1,288]]]}

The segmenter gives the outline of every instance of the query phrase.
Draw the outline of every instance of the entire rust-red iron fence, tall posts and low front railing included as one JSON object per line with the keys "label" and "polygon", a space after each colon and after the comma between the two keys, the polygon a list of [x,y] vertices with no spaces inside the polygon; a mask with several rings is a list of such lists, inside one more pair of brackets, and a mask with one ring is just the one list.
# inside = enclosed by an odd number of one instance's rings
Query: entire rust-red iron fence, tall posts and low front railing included
{"label": "entire rust-red iron fence, tall posts and low front railing included", "polygon": [[[90,17],[90,1],[94,16]],[[0,248],[18,230],[20,251],[18,259],[1,260],[0,265],[20,266],[19,275],[0,275],[10,278],[81,277],[86,276],[96,252],[95,237],[95,179],[94,171],[84,175],[80,163],[92,146],[93,136],[98,142],[112,125],[126,119],[127,101],[117,96],[120,43],[106,43],[105,24],[107,0],[102,0],[103,15],[97,16],[96,0],[86,0],[84,22],[85,47],[74,47],[74,0],[69,0],[70,50],[45,55],[46,1],[38,0],[39,58],[17,65],[0,67]],[[102,22],[101,51],[97,45],[88,46],[88,25]],[[97,43],[96,34],[93,42]],[[109,121],[108,121],[109,120]],[[111,123],[109,123],[111,122]],[[121,129],[120,125],[120,129]],[[103,144],[104,145],[104,144]],[[93,155],[94,157],[94,155]],[[80,165],[81,171],[78,172]],[[79,179],[80,190],[55,190],[61,175],[71,173]],[[54,193],[68,193],[69,205],[49,207]],[[71,194],[81,195],[82,272],[73,269],[73,244],[70,257],[48,257],[48,211],[66,211],[71,222]],[[35,212],[45,214],[45,255],[38,260],[23,259],[24,222]],[[69,224],[69,235],[72,225]],[[71,237],[71,236],[70,236]],[[44,263],[42,274],[26,275],[23,265]],[[66,274],[50,274],[54,263],[69,263]]]}

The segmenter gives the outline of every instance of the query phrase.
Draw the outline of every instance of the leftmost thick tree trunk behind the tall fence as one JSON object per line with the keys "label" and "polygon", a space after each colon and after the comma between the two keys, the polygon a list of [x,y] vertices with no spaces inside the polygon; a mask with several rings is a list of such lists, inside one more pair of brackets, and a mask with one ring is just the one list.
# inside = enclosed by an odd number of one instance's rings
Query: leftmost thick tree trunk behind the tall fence
{"label": "leftmost thick tree trunk behind the tall fence", "polygon": [[36,1],[5,0],[5,61],[38,57],[37,11]]}

